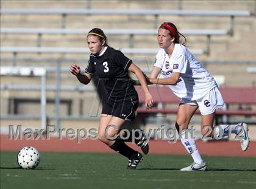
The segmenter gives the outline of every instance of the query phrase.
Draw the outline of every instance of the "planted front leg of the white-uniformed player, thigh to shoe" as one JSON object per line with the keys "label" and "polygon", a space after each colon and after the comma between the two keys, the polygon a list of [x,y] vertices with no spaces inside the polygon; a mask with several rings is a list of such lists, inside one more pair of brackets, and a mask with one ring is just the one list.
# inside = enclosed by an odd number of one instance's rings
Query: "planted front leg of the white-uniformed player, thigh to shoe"
{"label": "planted front leg of the white-uniformed player, thigh to shoe", "polygon": [[202,157],[197,149],[196,142],[191,137],[191,133],[188,131],[188,124],[190,123],[190,120],[197,108],[197,105],[185,104],[180,104],[178,108],[176,125],[179,125],[182,130],[181,142],[194,160],[192,165],[182,168],[181,171],[205,170],[206,168],[205,162],[202,160]]}

